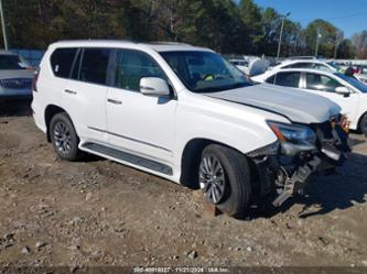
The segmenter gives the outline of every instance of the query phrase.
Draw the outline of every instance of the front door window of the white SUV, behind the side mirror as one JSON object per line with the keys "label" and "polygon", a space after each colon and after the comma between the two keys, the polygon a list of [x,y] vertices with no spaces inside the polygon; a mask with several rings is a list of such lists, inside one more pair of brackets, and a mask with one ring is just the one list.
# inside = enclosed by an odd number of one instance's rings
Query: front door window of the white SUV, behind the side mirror
{"label": "front door window of the white SUV, behind the side mirror", "polygon": [[131,50],[117,50],[114,86],[140,91],[140,79],[143,77],[166,78],[163,70],[148,54]]}

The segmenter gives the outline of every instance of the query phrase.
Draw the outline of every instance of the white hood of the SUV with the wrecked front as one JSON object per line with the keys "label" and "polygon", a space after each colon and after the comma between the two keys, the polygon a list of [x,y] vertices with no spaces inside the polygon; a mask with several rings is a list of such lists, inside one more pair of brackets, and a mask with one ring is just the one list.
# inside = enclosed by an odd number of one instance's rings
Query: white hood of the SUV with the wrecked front
{"label": "white hood of the SUV with the wrecked front", "polygon": [[205,95],[267,110],[287,117],[292,122],[306,124],[324,122],[341,112],[341,107],[325,97],[269,84]]}

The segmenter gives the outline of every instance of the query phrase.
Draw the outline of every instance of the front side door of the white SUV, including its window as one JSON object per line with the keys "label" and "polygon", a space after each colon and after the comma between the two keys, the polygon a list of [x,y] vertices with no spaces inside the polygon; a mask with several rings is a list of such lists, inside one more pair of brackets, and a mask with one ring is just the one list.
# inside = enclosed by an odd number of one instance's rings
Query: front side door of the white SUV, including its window
{"label": "front side door of the white SUV, including its window", "polygon": [[[176,100],[140,92],[142,77],[166,79],[147,53],[116,50],[107,92],[108,141],[133,154],[172,163]],[[153,155],[153,156],[152,156]]]}

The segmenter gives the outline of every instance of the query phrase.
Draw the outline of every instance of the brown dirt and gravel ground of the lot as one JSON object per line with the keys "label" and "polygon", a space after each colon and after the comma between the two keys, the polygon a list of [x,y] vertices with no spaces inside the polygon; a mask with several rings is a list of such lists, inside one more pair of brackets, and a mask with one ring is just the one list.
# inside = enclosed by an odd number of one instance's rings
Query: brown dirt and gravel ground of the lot
{"label": "brown dirt and gravel ground of the lot", "polygon": [[367,143],[305,197],[246,220],[107,160],[61,161],[29,110],[0,117],[0,265],[367,266]]}

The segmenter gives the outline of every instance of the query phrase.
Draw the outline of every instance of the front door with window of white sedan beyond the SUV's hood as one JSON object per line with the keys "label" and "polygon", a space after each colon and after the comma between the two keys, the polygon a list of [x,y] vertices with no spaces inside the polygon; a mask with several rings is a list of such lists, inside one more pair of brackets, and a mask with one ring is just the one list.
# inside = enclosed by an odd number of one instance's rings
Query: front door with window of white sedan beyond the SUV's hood
{"label": "front door with window of white sedan beyond the SUV's hood", "polygon": [[348,96],[338,95],[335,91],[337,87],[344,87],[344,85],[330,76],[316,73],[304,75],[303,88],[306,91],[321,95],[336,102],[342,107],[342,113],[347,114],[350,121],[355,121],[357,119],[359,95],[353,91]]}

